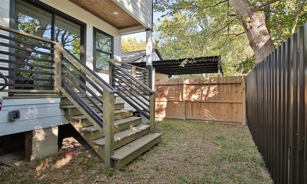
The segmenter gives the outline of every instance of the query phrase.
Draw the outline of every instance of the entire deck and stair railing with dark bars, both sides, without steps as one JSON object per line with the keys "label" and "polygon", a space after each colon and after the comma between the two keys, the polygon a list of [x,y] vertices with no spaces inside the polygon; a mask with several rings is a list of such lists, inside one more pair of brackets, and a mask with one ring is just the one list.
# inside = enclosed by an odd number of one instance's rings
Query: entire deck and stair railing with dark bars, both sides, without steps
{"label": "entire deck and stair railing with dark bars, both sides, without steps", "polygon": [[[115,151],[115,93],[150,120],[150,133],[154,133],[154,91],[147,87],[146,69],[124,63],[119,66],[115,64],[119,61],[111,60],[110,85],[60,43],[5,26],[0,29],[1,62],[8,64],[0,70],[9,73],[2,77],[9,80],[9,89],[2,92],[64,94],[105,136],[106,166],[112,166]],[[6,86],[6,82],[0,85]]]}

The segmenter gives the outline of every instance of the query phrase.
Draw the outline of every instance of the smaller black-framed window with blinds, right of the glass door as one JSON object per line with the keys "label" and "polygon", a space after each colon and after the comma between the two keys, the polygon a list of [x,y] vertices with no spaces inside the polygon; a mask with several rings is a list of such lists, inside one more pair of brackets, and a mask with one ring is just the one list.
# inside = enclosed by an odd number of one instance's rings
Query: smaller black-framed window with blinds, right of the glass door
{"label": "smaller black-framed window with blinds, right of the glass door", "polygon": [[94,71],[107,73],[109,71],[109,60],[114,58],[113,42],[114,38],[94,28]]}

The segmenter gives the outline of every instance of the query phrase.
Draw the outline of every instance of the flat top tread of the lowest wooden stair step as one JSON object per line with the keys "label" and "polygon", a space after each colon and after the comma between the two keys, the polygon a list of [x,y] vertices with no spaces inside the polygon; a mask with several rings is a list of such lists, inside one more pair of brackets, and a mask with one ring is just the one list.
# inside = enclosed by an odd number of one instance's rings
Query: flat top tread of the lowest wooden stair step
{"label": "flat top tread of the lowest wooden stair step", "polygon": [[144,135],[132,141],[131,143],[128,143],[125,146],[122,146],[119,149],[115,150],[114,155],[111,156],[111,158],[115,160],[122,160],[126,156],[134,153],[136,150],[140,149],[147,143],[150,143],[150,141],[152,141],[153,139],[156,139],[159,136],[161,136],[161,134],[159,133]]}

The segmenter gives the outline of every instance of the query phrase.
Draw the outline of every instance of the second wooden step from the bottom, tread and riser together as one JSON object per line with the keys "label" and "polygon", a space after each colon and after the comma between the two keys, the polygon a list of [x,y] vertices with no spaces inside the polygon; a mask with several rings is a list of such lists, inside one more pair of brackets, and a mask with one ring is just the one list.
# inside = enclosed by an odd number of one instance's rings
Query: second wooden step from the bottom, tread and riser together
{"label": "second wooden step from the bottom, tread and riser together", "polygon": [[[119,148],[131,141],[142,137],[149,133],[150,125],[138,125],[123,131],[119,131],[114,134],[114,142],[115,142],[115,149]],[[95,144],[104,146],[105,145],[105,137],[96,139],[93,141]]]}

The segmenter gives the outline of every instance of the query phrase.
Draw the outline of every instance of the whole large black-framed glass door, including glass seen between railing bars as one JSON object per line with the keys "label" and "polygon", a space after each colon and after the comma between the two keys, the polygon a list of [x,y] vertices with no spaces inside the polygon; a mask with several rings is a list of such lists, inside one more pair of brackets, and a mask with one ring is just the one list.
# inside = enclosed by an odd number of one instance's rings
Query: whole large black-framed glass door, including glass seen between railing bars
{"label": "whole large black-framed glass door, including glass seen between railing bars", "polygon": [[[40,1],[11,1],[12,7],[15,6],[15,9],[12,8],[11,19],[14,19],[15,29],[23,31],[25,33],[30,33],[32,35],[42,37],[45,39],[49,39],[52,41],[57,41],[63,44],[65,49],[68,49],[69,52],[73,53],[81,62],[85,62],[85,38],[86,38],[86,24],[73,18],[55,8],[46,5]],[[15,34],[15,38],[21,39],[23,41],[29,41],[36,43],[37,40],[30,39],[28,37],[24,37],[22,35]],[[41,52],[52,52],[49,49],[43,49],[40,47],[35,47],[33,45],[24,44],[20,42],[13,42],[13,44],[26,47],[29,49],[35,49]],[[39,41],[40,45],[52,47],[52,45],[48,42]],[[14,49],[14,52],[17,54],[28,55],[32,57],[38,57],[41,59],[52,60],[51,56],[47,56],[44,54],[36,53],[36,52],[28,52],[21,49]],[[52,66],[50,62],[37,61],[31,58],[24,57],[14,57],[11,60],[16,60],[18,62],[31,63],[31,65],[14,65],[10,64],[9,67],[15,69],[25,69],[39,72],[52,72],[50,68],[42,68],[37,67],[35,65],[45,65],[48,67]],[[35,65],[34,65],[35,64]],[[41,78],[43,80],[14,80],[15,84],[37,84],[37,85],[50,85],[52,81],[50,79],[53,78],[51,75],[43,75],[37,73],[29,73],[29,72],[9,72],[12,76],[18,77],[33,77],[33,78]],[[77,77],[79,75],[75,74]],[[48,81],[45,81],[48,79]],[[80,80],[83,80],[80,77]],[[27,82],[27,83],[25,83]],[[37,87],[37,89],[45,89],[41,87]],[[18,88],[21,89],[21,88]],[[36,89],[36,88],[23,88],[23,89]],[[50,89],[50,88],[46,88]]]}

